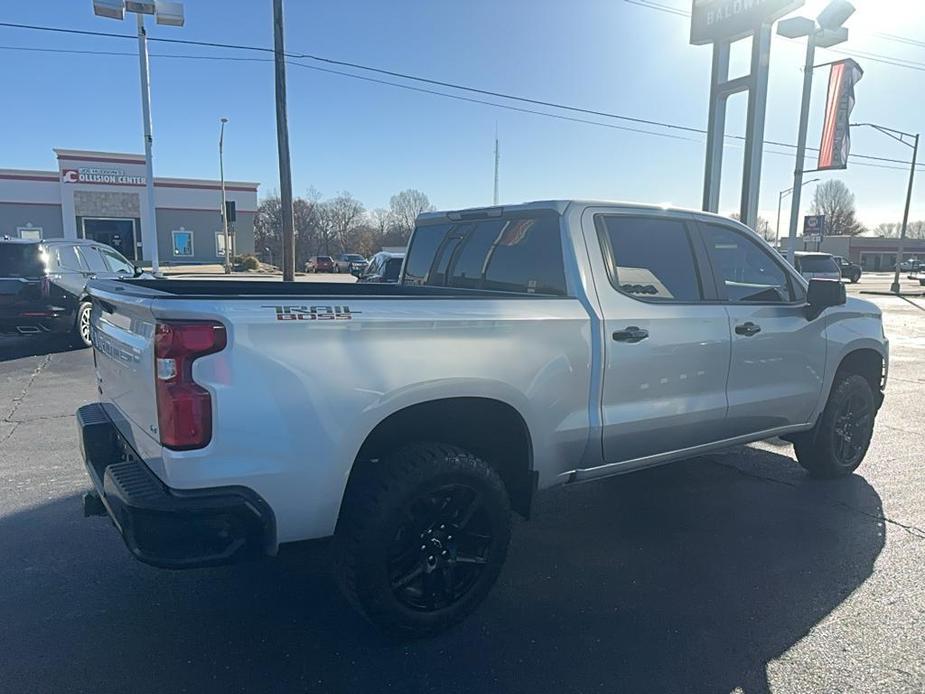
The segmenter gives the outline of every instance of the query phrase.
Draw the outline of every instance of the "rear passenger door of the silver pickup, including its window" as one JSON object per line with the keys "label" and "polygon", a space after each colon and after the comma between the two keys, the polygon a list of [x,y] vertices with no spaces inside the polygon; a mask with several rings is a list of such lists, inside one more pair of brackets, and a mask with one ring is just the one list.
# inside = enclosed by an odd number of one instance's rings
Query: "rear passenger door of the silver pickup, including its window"
{"label": "rear passenger door of the silver pickup, including its window", "polygon": [[[607,267],[603,455],[621,463],[721,438],[730,336],[725,307],[698,271],[683,216],[595,215]],[[588,228],[587,226],[585,228]],[[595,239],[588,239],[593,246]]]}

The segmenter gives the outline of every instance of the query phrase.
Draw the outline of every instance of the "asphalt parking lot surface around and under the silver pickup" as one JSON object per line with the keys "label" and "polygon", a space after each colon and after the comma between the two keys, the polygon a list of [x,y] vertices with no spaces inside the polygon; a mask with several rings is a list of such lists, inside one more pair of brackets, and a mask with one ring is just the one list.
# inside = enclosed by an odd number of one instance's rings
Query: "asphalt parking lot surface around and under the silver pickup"
{"label": "asphalt parking lot surface around and under the silver pickup", "polygon": [[413,643],[348,608],[323,545],[132,559],[81,516],[90,352],[2,338],[0,691],[925,691],[925,299],[871,298],[891,372],[858,474],[765,442],[544,492],[485,605]]}

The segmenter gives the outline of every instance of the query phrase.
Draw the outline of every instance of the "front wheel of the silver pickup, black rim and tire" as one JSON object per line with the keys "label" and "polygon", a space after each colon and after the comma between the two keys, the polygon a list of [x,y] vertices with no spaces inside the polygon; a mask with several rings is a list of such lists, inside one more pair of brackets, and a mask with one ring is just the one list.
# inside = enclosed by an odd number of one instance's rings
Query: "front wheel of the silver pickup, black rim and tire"
{"label": "front wheel of the silver pickup, black rim and tire", "polygon": [[857,374],[836,374],[816,427],[794,444],[800,465],[813,477],[850,475],[867,454],[876,409],[866,378]]}

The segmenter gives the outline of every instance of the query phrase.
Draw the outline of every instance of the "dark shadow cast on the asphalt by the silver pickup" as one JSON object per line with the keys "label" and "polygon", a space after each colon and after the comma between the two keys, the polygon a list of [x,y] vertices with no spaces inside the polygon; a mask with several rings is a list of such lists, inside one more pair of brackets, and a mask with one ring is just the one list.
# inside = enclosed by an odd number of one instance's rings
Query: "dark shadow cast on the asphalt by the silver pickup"
{"label": "dark shadow cast on the asphalt by the silver pickup", "polygon": [[882,524],[847,507],[880,499],[858,476],[789,486],[721,458],[541,494],[486,604],[411,643],[346,606],[317,545],[169,572],[77,496],[7,515],[4,689],[767,692],[767,664],[871,575]]}

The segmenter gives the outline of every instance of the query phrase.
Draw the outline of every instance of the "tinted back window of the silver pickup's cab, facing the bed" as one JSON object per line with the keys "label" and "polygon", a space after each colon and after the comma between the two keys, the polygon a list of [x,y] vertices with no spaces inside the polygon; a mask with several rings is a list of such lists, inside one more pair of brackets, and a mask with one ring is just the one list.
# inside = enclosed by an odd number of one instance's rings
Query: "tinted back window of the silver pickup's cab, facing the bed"
{"label": "tinted back window of the silver pickup's cab, facing the bed", "polygon": [[419,227],[411,240],[404,282],[564,296],[559,217],[550,214]]}

